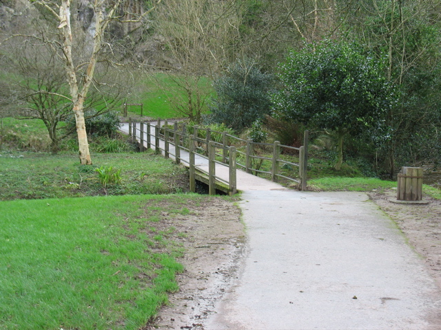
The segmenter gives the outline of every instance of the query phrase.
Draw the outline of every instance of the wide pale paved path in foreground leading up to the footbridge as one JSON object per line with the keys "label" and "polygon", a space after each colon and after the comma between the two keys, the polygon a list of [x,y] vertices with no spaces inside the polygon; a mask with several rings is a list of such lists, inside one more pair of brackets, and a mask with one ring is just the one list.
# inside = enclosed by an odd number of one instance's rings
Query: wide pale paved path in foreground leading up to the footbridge
{"label": "wide pale paved path in foreground leading up to the footbridge", "polygon": [[440,288],[365,193],[287,190],[243,171],[238,190],[247,256],[205,330],[441,329]]}

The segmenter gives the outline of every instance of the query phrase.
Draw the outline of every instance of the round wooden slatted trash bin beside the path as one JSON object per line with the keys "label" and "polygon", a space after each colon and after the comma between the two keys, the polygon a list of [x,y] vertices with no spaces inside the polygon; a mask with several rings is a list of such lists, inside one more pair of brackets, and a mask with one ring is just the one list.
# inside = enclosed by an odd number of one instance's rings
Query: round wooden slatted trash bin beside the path
{"label": "round wooden slatted trash bin beside the path", "polygon": [[422,168],[402,167],[398,174],[397,199],[420,201],[422,199]]}

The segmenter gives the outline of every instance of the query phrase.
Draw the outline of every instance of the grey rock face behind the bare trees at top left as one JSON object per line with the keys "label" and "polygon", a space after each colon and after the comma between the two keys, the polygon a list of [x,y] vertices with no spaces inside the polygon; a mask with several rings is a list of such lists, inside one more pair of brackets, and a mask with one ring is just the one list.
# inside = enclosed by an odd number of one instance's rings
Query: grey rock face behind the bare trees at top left
{"label": "grey rock face behind the bare trees at top left", "polygon": [[[79,0],[72,3],[72,23],[76,23],[76,34],[83,34],[86,45],[81,46],[85,52],[92,40],[94,28],[94,10],[91,0]],[[130,12],[130,14],[127,14]],[[142,23],[137,19],[142,17],[144,8],[140,1],[125,1],[120,9],[119,22],[110,23],[107,28],[107,42],[112,45],[112,52],[120,54],[120,61],[136,61],[160,69],[173,69],[177,66],[172,56],[167,54],[167,40],[161,34],[154,33],[154,22],[143,17]],[[32,29],[32,19],[41,17],[39,12],[28,0],[0,0],[0,34],[25,33]],[[125,23],[121,23],[125,21]],[[32,33],[28,30],[26,33]]]}

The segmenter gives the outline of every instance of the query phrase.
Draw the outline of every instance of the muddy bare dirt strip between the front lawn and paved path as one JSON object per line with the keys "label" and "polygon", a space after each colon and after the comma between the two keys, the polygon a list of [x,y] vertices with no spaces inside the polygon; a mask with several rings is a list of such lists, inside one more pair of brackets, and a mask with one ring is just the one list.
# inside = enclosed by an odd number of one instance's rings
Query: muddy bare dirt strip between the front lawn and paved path
{"label": "muddy bare dirt strip between the front lawn and paved path", "polygon": [[186,207],[190,214],[170,220],[181,232],[185,247],[185,256],[179,260],[185,272],[177,276],[180,289],[145,330],[203,329],[203,320],[236,278],[245,250],[238,206],[214,198]]}

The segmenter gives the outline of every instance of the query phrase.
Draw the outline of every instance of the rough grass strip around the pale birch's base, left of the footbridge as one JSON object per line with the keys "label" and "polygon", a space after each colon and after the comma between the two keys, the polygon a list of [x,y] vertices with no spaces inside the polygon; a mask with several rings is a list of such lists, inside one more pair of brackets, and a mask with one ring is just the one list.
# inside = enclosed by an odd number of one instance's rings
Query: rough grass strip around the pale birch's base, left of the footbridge
{"label": "rough grass strip around the pale birch's base, left of the footbridge", "polygon": [[[92,166],[76,153],[0,152],[0,200],[163,194],[188,190],[187,170],[153,153],[96,153]],[[121,170],[121,182],[106,187],[95,168]]]}

